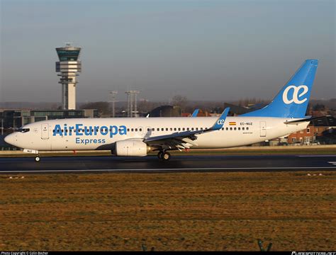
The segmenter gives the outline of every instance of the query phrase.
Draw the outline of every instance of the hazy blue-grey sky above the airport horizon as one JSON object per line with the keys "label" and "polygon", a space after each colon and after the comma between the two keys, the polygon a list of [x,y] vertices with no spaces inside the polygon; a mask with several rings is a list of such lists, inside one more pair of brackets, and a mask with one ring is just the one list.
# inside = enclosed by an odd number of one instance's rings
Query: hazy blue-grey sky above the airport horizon
{"label": "hazy blue-grey sky above the airport horizon", "polygon": [[333,0],[0,0],[0,101],[62,101],[55,47],[82,47],[77,101],[271,99],[306,59],[336,98]]}

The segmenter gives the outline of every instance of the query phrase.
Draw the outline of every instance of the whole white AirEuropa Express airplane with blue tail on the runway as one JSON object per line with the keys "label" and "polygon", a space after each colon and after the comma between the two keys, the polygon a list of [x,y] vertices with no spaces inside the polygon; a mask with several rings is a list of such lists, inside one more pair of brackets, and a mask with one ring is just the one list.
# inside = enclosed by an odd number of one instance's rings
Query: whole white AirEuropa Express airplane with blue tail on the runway
{"label": "whole white AirEuropa Express airplane with blue tail on the runway", "polygon": [[[157,151],[211,149],[251,145],[305,129],[306,109],[318,60],[306,60],[279,94],[264,108],[237,117],[219,118],[77,118],[45,120],[24,125],[5,137],[24,152],[111,150],[116,156],[146,156]],[[193,116],[196,116],[194,114]]]}

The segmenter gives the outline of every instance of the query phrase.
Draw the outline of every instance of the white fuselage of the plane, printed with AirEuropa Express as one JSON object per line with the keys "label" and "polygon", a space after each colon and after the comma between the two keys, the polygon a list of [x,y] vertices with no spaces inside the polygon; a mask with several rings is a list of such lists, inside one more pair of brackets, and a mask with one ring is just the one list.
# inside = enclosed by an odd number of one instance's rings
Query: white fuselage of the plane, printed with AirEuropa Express
{"label": "white fuselage of the plane, printed with AirEuropa Express", "polygon": [[[176,132],[206,130],[217,118],[77,118],[45,120],[23,126],[6,141],[38,151],[113,149],[121,140]],[[228,117],[220,130],[196,135],[192,148],[227,148],[252,145],[303,130],[309,122],[287,125],[291,118]]]}

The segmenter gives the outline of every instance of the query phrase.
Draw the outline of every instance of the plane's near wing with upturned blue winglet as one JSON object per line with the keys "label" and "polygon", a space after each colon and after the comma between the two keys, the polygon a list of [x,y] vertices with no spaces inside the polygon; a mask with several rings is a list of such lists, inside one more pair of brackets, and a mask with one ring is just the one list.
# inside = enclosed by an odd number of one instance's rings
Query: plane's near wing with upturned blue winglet
{"label": "plane's near wing with upturned blue winglet", "polygon": [[195,142],[197,140],[197,135],[201,135],[205,132],[220,130],[225,123],[225,119],[228,116],[229,111],[230,108],[225,108],[213,126],[206,130],[174,132],[169,135],[147,137],[143,140],[143,142],[152,147],[157,147],[158,149],[189,149],[191,146],[197,145]]}

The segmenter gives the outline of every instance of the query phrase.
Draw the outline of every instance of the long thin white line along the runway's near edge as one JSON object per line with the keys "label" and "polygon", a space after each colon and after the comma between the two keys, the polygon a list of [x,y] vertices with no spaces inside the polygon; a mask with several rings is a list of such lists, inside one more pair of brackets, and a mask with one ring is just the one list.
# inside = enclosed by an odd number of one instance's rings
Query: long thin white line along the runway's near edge
{"label": "long thin white line along the runway's near edge", "polygon": [[[336,163],[336,162],[335,162]],[[175,169],[73,169],[73,170],[15,170],[0,171],[4,173],[50,173],[50,172],[89,172],[89,171],[181,171],[181,170],[265,170],[265,169],[335,169],[335,166],[298,166],[298,167],[213,167],[213,168],[175,168]]]}

